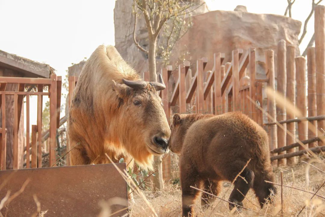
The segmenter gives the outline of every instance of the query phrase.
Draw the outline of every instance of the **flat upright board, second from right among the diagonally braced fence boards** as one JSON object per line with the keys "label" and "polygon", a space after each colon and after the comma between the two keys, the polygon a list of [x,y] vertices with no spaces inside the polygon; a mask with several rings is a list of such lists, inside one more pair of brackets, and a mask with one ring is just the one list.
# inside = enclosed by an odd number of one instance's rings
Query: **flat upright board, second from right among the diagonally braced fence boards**
{"label": "flat upright board, second from right among the diagonally braced fence boards", "polygon": [[232,51],[232,104],[233,111],[240,110],[239,95],[239,51]]}

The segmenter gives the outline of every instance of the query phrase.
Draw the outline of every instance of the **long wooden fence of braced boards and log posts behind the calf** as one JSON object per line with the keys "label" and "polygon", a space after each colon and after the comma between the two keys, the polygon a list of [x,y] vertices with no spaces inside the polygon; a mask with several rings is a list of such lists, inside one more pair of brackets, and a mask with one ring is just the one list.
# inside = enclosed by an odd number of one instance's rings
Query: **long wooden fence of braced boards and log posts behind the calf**
{"label": "long wooden fence of braced boards and log posts behind the calf", "polygon": [[[308,128],[308,121],[317,126],[318,132],[325,127],[324,17],[324,7],[316,7],[316,46],[308,48],[307,62],[304,57],[296,57],[296,47],[286,45],[284,40],[279,41],[276,50],[276,66],[274,50],[265,51],[266,79],[256,77],[256,49],[253,47],[248,50],[233,50],[230,62],[225,62],[227,58],[224,53],[215,53],[212,69],[206,68],[207,58],[198,59],[195,67],[185,61],[174,70],[171,66],[162,68],[160,73],[166,89],[160,92],[160,96],[163,99],[168,122],[173,111],[216,115],[241,111],[268,131],[271,160],[274,163],[294,163],[293,156],[307,152],[296,142],[296,134],[310,151],[324,151],[325,146],[322,142],[324,136],[318,137],[317,132]],[[189,69],[195,73],[189,73]],[[171,76],[175,80],[174,84],[169,82]],[[149,81],[149,72],[144,72],[143,78]],[[69,78],[70,97],[77,80],[76,77]],[[277,104],[274,97],[263,97],[266,86],[274,91],[274,94],[276,91],[281,94],[301,114],[298,116],[293,111],[286,111],[281,103]],[[264,106],[265,104],[267,106]],[[264,123],[266,115],[263,114],[263,110],[268,113],[267,123]],[[275,121],[278,121],[284,129],[277,127]],[[298,123],[298,133],[295,123]],[[295,152],[295,147],[299,147],[299,151]],[[170,167],[171,159],[170,155],[167,155],[163,159],[165,180],[171,177]]]}

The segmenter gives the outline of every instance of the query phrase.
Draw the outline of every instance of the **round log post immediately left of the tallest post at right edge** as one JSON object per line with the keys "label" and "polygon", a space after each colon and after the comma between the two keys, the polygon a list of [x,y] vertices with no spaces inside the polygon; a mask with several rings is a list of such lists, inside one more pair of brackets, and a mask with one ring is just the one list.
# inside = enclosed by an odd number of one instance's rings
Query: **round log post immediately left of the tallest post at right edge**
{"label": "round log post immediately left of the tallest post at right edge", "polygon": [[[315,47],[308,47],[307,49],[307,70],[308,70],[308,116],[317,115],[316,106],[316,59]],[[317,129],[317,121],[311,121]],[[317,137],[317,131],[314,133],[308,129],[308,139]],[[309,148],[316,147],[317,142],[309,143]]]}

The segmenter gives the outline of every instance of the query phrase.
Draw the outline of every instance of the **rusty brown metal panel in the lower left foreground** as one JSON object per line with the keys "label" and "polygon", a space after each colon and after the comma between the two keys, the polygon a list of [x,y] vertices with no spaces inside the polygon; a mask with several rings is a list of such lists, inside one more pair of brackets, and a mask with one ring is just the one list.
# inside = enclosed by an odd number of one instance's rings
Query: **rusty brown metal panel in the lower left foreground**
{"label": "rusty brown metal panel in the lower left foreground", "polygon": [[[125,170],[125,163],[116,164]],[[10,196],[19,191],[30,179],[25,190],[13,199],[1,212],[11,216],[31,216],[35,211],[35,194],[41,210],[52,216],[98,216],[101,201],[120,197],[127,204],[126,182],[112,164],[83,165],[70,167],[37,168],[0,171],[0,183],[8,180],[0,189],[0,200],[10,190]],[[109,204],[109,203],[108,203]],[[107,204],[107,207],[108,207]],[[112,216],[123,216],[127,206],[112,205]]]}

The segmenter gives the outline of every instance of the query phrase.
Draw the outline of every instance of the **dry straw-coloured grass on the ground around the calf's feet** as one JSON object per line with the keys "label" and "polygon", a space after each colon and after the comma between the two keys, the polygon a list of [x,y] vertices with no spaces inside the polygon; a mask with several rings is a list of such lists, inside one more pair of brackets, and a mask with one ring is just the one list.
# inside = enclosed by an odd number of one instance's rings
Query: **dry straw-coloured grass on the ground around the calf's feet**
{"label": "dry straw-coloured grass on the ground around the calf's feet", "polygon": [[[314,166],[324,170],[324,164],[312,163]],[[303,189],[315,193],[321,184],[325,181],[325,173],[308,166],[305,163],[299,163],[292,167],[278,167],[275,168],[276,183],[281,183],[280,171],[283,171],[283,185],[292,186],[295,188]],[[309,186],[308,186],[309,183]],[[230,185],[224,182],[223,191],[219,197],[227,192]],[[225,199],[229,198],[233,186],[226,193]],[[244,207],[250,210],[237,212],[236,210],[229,211],[228,203],[216,200],[216,207],[212,209],[202,210],[200,198],[196,202],[197,216],[281,216],[281,186],[277,186],[278,194],[273,197],[274,203],[266,204],[263,209],[258,206],[257,198],[253,190],[250,190],[243,201]],[[179,186],[167,185],[162,192],[153,193],[145,191],[145,196],[159,217],[178,217],[181,216],[181,190]],[[325,187],[322,187],[317,195],[325,197]],[[300,213],[299,216],[325,216],[325,199],[315,196],[312,200],[310,198],[313,194],[303,192],[300,190],[283,187],[283,216],[297,216],[299,211],[306,205],[306,208]],[[149,217],[152,216],[151,211],[143,201],[143,198],[135,195],[134,201],[130,202],[130,216]]]}

